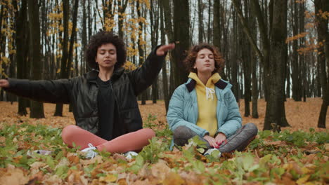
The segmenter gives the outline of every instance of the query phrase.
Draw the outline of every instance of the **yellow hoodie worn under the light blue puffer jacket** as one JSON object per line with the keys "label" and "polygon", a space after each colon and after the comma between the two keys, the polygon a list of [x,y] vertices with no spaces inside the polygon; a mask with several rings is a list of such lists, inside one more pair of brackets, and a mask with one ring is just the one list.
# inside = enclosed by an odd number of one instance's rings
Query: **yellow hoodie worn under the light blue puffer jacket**
{"label": "yellow hoodie worn under the light blue puffer jacket", "polygon": [[198,100],[199,116],[197,125],[209,132],[209,136],[214,137],[217,131],[217,97],[214,90],[214,83],[217,83],[221,79],[218,73],[213,74],[207,81],[207,84],[203,84],[195,73],[190,73],[188,78],[192,78],[196,81],[195,90]]}

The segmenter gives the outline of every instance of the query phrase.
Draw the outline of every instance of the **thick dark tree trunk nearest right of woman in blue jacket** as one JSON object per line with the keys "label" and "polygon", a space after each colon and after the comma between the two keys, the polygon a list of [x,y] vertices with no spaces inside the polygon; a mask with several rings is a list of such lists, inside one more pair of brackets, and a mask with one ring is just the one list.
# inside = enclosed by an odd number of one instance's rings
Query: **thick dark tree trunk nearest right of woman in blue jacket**
{"label": "thick dark tree trunk nearest right of woman in blue jacket", "polygon": [[284,74],[285,67],[285,39],[287,37],[287,1],[274,1],[271,24],[271,56],[269,68],[265,67],[265,73],[269,74],[269,97],[266,104],[264,130],[288,126],[285,118],[284,104]]}

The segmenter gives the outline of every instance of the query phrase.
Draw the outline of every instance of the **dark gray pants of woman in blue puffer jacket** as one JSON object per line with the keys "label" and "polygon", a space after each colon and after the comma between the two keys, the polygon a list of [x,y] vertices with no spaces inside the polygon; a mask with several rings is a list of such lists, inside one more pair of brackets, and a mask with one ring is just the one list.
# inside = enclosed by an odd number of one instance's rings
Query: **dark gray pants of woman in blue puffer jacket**
{"label": "dark gray pants of woman in blue puffer jacket", "polygon": [[[234,135],[228,137],[224,144],[219,146],[219,151],[221,153],[228,153],[233,151],[243,151],[245,147],[252,142],[254,137],[256,137],[258,129],[256,125],[253,123],[247,123],[243,125]],[[186,126],[179,126],[174,130],[174,144],[178,146],[183,146],[188,144],[188,139],[198,135],[197,133],[193,132],[190,128]],[[206,142],[207,148],[210,148],[209,143],[207,140],[203,139],[203,137],[198,136],[200,140]]]}

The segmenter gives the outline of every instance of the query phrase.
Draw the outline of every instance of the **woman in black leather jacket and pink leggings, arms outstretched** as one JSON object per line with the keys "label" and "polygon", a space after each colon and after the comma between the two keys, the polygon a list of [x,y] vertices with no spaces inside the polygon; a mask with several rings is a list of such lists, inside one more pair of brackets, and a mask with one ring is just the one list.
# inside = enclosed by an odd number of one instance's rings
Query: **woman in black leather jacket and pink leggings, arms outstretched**
{"label": "woman in black leather jacket and pink leggings, arms outstretched", "polygon": [[86,158],[103,150],[140,151],[155,132],[142,127],[136,96],[153,83],[173,48],[173,43],[157,46],[141,67],[125,72],[124,42],[101,31],[91,36],[86,61],[93,70],[83,76],[53,81],[1,79],[0,88],[40,102],[71,104],[76,125],[63,128],[63,142],[80,146]]}

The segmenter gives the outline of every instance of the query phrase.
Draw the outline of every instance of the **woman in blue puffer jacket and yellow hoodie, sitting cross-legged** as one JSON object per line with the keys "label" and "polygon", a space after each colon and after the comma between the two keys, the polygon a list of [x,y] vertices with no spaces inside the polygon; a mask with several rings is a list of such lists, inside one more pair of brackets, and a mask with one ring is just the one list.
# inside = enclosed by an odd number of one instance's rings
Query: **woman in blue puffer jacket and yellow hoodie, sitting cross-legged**
{"label": "woman in blue puffer jacket and yellow hoodie, sitting cross-legged", "polygon": [[214,46],[193,46],[184,60],[188,81],[174,91],[169,102],[167,121],[178,146],[198,136],[207,145],[205,154],[243,151],[257,135],[253,123],[242,126],[238,104],[227,81],[219,71],[224,60]]}

